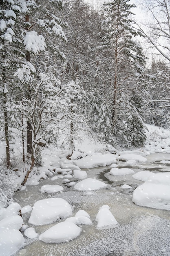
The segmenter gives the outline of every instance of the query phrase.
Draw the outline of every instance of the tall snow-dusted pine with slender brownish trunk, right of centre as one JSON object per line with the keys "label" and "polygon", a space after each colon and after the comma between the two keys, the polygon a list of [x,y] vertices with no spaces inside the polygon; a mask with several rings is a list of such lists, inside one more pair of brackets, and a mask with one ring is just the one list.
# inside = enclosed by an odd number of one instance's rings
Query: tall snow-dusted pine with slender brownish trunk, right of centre
{"label": "tall snow-dusted pine with slender brownish trunk, right of centre", "polygon": [[[128,0],[115,0],[104,4],[104,31],[102,49],[108,53],[111,77],[113,134],[122,137],[124,129],[121,116],[129,102],[137,77],[144,72],[145,57],[140,44],[134,37],[137,31],[132,26],[130,10],[134,4]],[[122,102],[124,102],[122,104]],[[123,111],[123,112],[122,112]]]}

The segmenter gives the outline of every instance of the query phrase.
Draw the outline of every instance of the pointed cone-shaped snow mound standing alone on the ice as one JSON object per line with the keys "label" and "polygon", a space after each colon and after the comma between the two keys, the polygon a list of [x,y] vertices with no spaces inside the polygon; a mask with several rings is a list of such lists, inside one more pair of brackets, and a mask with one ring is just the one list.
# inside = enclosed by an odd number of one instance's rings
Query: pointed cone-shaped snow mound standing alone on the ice
{"label": "pointed cone-shaped snow mound standing alone on the ice", "polygon": [[113,216],[113,214],[110,212],[110,207],[108,205],[103,205],[95,218],[97,221],[97,228],[101,229],[104,227],[112,227],[114,225],[117,225],[117,220]]}

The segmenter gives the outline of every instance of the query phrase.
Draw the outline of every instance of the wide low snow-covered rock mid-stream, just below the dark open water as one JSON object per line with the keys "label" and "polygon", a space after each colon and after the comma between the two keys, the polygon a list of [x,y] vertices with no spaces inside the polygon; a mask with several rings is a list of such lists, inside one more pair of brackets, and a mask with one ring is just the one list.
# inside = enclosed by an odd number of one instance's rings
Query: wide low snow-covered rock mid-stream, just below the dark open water
{"label": "wide low snow-covered rock mid-stream, just below the dark open water", "polygon": [[105,184],[102,181],[96,180],[96,179],[85,179],[82,180],[80,182],[78,182],[77,184],[75,184],[74,189],[76,190],[96,190],[96,189],[102,189],[105,186],[107,186],[107,184]]}

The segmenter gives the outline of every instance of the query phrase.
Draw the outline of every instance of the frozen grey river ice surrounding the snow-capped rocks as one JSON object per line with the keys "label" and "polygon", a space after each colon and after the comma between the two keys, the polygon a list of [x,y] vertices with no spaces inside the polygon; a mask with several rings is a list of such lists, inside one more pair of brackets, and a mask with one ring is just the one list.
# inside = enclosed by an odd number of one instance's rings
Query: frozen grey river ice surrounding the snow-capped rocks
{"label": "frozen grey river ice surrounding the snow-capped rocks", "polygon": [[[170,171],[170,165],[160,164],[161,160],[170,160],[169,154],[152,154],[145,164],[131,168],[138,171],[162,172]],[[120,166],[123,162],[120,163]],[[97,178],[108,184],[103,189],[92,191],[75,191],[64,185],[62,179],[41,180],[37,186],[27,186],[27,189],[15,193],[14,200],[21,207],[31,205],[44,198],[63,198],[73,207],[73,215],[82,209],[91,216],[93,225],[82,225],[79,237],[67,243],[47,244],[38,238],[26,238],[26,246],[15,256],[163,256],[170,255],[170,212],[137,206],[132,203],[134,189],[143,184],[135,180],[132,174],[112,176],[108,174],[109,167],[86,170],[88,178]],[[74,178],[70,179],[74,180]],[[62,193],[41,193],[44,184],[62,185]],[[122,189],[128,184],[132,189]],[[97,229],[95,221],[97,212],[102,205],[108,204],[110,211],[119,223],[115,227]],[[28,223],[30,212],[23,215],[24,224],[35,227],[37,233],[52,227],[54,224],[33,226]],[[55,223],[56,224],[56,223]]]}

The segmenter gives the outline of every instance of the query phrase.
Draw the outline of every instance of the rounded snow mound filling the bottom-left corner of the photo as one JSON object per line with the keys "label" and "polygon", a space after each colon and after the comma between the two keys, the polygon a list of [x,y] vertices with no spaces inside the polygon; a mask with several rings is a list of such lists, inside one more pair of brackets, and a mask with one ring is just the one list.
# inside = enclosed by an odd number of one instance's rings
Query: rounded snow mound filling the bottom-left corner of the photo
{"label": "rounded snow mound filling the bottom-left corner of the photo", "polygon": [[0,229],[0,253],[4,256],[13,255],[24,245],[24,237],[19,230]]}

